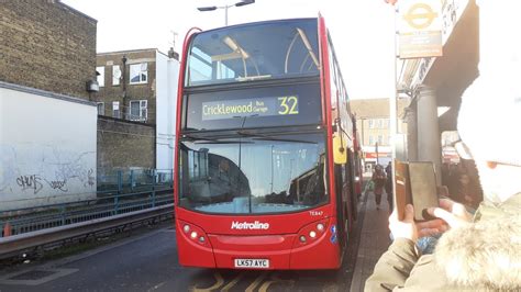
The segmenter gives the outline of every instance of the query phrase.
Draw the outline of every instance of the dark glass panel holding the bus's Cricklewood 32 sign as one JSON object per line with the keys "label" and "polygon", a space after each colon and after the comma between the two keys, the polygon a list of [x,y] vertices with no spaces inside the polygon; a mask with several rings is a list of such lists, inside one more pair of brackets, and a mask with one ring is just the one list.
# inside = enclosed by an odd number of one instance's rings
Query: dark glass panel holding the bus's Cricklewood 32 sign
{"label": "dark glass panel holding the bus's Cricklewood 32 sign", "polygon": [[320,83],[187,94],[184,128],[225,130],[321,123]]}

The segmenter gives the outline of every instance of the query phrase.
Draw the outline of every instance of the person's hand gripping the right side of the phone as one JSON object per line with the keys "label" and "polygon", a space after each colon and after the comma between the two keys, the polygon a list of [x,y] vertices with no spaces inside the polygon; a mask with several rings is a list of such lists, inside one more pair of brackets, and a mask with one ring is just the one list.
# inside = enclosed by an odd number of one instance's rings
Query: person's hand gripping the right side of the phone
{"label": "person's hand gripping the right side of the phone", "polygon": [[465,226],[473,218],[463,204],[448,199],[440,199],[440,207],[429,207],[428,212],[432,216],[443,220],[451,228]]}

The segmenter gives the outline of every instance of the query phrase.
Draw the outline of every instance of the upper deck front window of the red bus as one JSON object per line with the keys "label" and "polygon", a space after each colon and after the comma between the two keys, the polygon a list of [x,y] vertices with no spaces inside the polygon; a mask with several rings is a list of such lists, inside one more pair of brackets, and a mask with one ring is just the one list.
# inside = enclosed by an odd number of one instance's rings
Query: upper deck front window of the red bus
{"label": "upper deck front window of the red bus", "polygon": [[318,75],[317,32],[317,20],[306,19],[197,34],[188,57],[186,86]]}

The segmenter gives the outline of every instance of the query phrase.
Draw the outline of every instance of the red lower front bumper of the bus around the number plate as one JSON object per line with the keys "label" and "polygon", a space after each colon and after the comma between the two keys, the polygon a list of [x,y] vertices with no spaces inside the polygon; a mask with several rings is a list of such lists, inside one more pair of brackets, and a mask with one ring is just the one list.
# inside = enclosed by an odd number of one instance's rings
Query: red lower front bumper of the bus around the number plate
{"label": "red lower front bumper of the bus around the number plate", "polygon": [[[300,240],[300,234],[286,235],[208,235],[208,245],[191,240],[178,226],[179,262],[189,267],[222,269],[309,270],[337,269],[341,249],[335,228],[317,238]],[[237,267],[237,261],[268,260],[263,267]],[[244,261],[243,261],[244,262]]]}

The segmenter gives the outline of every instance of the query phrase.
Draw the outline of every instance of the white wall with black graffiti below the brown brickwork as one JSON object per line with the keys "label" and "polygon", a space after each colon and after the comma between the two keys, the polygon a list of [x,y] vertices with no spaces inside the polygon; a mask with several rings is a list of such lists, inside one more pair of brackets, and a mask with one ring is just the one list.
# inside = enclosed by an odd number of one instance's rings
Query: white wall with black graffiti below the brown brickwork
{"label": "white wall with black graffiti below the brown brickwork", "polygon": [[0,88],[0,211],[96,198],[95,104]]}

